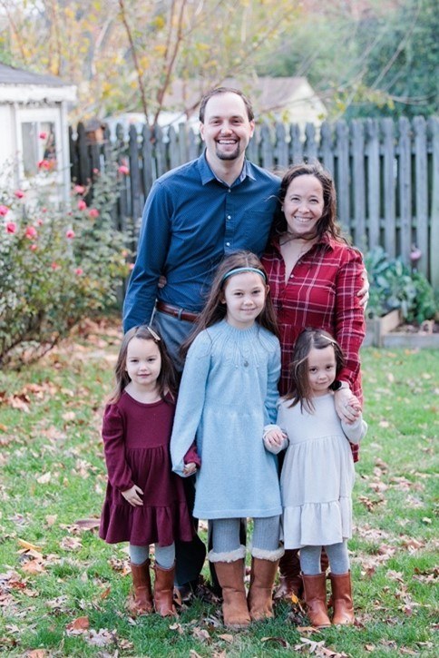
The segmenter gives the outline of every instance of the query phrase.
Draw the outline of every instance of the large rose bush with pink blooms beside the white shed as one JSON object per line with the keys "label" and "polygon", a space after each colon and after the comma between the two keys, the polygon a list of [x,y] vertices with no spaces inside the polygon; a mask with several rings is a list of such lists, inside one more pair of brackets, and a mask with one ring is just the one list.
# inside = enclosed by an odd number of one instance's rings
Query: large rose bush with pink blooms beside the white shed
{"label": "large rose bush with pink blooms beside the white shed", "polygon": [[113,227],[117,172],[76,185],[69,208],[48,201],[48,189],[0,191],[0,364],[38,358],[84,316],[116,303],[128,274],[126,236]]}

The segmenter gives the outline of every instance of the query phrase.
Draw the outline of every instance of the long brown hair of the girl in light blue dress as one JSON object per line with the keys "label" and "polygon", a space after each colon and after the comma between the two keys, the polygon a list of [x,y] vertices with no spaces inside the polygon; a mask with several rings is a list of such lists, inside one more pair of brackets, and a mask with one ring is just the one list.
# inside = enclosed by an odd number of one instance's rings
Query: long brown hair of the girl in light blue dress
{"label": "long brown hair of the girl in light blue dress", "polygon": [[[231,275],[227,278],[227,275],[231,270],[236,270],[238,268],[254,268],[255,270],[259,270],[265,285],[268,285],[267,272],[264,270],[258,256],[251,251],[235,251],[229,256],[226,256],[224,260],[221,260],[210,288],[208,300],[204,309],[200,312],[195,329],[181,347],[181,353],[183,356],[187,353],[193,340],[201,331],[217,324],[217,322],[226,317],[227,306],[225,302],[222,301],[222,298],[225,287],[233,276]],[[264,308],[259,313],[256,321],[261,327],[265,327],[265,329],[271,331],[275,336],[278,336],[278,322],[276,320],[276,313],[269,290],[266,294]]]}

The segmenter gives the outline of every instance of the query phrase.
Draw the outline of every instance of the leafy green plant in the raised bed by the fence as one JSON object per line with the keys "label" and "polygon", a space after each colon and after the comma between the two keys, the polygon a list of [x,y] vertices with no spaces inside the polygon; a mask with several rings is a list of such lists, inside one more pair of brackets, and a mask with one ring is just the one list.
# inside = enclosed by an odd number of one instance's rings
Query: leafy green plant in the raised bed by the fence
{"label": "leafy green plant in the raised bed by the fence", "polygon": [[381,247],[366,254],[365,264],[370,282],[369,318],[393,309],[400,309],[408,322],[434,318],[434,290],[424,274],[410,270],[400,259],[389,259]]}

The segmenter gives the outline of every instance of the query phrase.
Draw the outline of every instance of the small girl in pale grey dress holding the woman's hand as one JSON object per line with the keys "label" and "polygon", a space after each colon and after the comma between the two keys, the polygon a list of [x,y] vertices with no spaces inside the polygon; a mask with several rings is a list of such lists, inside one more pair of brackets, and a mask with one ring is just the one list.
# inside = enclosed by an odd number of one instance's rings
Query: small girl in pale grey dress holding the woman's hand
{"label": "small girl in pale grey dress holding the woman's hand", "polygon": [[[356,419],[348,424],[337,416],[334,390],[343,363],[340,346],[327,331],[305,329],[293,352],[291,384],[280,400],[277,426],[264,434],[266,447],[275,453],[289,443],[280,476],[284,545],[300,549],[308,616],[317,628],[331,624],[326,574],[320,569],[323,546],[331,567],[332,622],[354,622],[346,540],[352,536],[355,470],[348,442],[358,444],[367,426],[354,396],[346,406]],[[279,437],[280,427],[288,439]]]}

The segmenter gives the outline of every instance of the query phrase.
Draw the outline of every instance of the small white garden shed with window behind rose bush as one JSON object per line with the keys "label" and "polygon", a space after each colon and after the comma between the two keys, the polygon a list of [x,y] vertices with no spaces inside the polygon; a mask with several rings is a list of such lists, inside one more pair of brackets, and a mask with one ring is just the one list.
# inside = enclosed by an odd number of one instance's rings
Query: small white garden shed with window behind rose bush
{"label": "small white garden shed with window behind rose bush", "polygon": [[56,183],[70,192],[67,109],[76,87],[53,75],[0,64],[0,182],[24,191]]}

